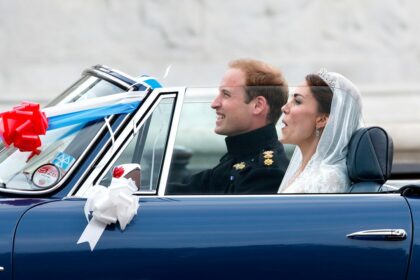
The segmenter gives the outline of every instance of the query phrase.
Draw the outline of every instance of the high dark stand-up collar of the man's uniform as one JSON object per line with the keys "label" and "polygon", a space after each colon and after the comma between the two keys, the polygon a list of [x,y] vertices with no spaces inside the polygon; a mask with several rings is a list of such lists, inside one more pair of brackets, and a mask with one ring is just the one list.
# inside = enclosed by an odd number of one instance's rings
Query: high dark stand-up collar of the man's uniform
{"label": "high dark stand-up collar of the man's uniform", "polygon": [[259,153],[267,144],[278,141],[274,124],[225,138],[228,154],[234,157]]}

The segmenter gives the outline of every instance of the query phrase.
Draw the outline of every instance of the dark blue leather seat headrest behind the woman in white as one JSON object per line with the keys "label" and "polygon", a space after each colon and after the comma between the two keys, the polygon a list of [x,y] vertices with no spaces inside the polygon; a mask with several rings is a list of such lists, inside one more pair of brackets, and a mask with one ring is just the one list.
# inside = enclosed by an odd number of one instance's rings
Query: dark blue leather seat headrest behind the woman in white
{"label": "dark blue leather seat headrest behind the woman in white", "polygon": [[391,137],[380,127],[357,130],[349,144],[347,171],[350,192],[378,192],[391,175],[394,146]]}

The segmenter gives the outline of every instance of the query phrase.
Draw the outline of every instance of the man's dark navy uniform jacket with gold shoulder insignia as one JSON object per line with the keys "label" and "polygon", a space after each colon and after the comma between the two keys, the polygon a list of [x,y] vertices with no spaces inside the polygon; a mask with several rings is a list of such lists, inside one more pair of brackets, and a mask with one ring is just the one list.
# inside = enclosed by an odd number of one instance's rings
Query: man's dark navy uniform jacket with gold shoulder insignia
{"label": "man's dark navy uniform jacket with gold shoulder insignia", "polygon": [[191,176],[187,184],[168,186],[168,194],[277,193],[288,159],[273,124],[226,137],[227,153],[212,169]]}

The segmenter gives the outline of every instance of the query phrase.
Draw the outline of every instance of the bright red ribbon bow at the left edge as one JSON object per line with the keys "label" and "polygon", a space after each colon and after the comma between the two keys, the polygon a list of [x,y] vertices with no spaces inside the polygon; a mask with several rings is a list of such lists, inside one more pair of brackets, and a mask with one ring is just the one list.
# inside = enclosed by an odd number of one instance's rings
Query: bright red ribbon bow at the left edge
{"label": "bright red ribbon bow at the left edge", "polygon": [[0,136],[6,145],[21,152],[39,153],[39,135],[45,135],[48,120],[37,103],[22,102],[13,110],[0,114]]}

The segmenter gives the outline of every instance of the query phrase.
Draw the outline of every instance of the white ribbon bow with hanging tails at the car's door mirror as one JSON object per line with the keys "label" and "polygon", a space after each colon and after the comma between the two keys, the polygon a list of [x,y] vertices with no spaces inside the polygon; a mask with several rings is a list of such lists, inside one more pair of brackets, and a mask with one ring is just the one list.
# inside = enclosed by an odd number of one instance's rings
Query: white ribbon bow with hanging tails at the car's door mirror
{"label": "white ribbon bow with hanging tails at the car's door mirror", "polygon": [[[121,230],[124,230],[139,207],[138,198],[132,195],[135,191],[137,187],[134,181],[123,177],[112,178],[108,188],[96,185],[88,196],[84,209],[89,223],[77,244],[88,242],[93,251],[107,225],[118,221]],[[92,219],[89,221],[91,212]]]}

